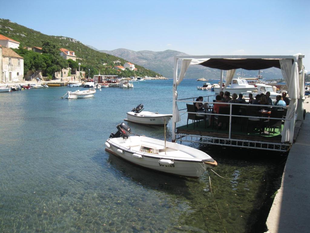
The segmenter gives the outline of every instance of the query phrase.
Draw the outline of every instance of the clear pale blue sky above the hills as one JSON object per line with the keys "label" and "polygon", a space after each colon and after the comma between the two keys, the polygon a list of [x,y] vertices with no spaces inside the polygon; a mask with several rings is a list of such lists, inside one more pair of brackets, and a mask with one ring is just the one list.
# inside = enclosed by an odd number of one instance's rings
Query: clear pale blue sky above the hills
{"label": "clear pale blue sky above the hills", "polygon": [[177,50],[191,55],[305,54],[310,1],[3,1],[0,18],[100,50]]}

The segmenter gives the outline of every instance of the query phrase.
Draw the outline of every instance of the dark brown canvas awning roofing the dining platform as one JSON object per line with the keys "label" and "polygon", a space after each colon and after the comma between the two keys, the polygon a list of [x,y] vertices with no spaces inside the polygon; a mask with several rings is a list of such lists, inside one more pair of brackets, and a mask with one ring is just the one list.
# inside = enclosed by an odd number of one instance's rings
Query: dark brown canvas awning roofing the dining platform
{"label": "dark brown canvas awning roofing the dining platform", "polygon": [[205,62],[199,63],[199,65],[219,70],[232,70],[232,69],[263,70],[271,67],[281,69],[279,59],[259,59],[259,58],[246,58],[246,59],[210,58]]}

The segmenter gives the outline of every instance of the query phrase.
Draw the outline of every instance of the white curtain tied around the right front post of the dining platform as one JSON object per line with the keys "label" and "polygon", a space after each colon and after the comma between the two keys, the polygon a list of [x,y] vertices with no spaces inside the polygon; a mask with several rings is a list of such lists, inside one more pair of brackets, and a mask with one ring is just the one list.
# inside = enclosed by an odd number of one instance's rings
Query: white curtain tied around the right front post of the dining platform
{"label": "white curtain tied around the right front post of the dining platform", "polygon": [[[299,54],[293,55],[294,62],[292,65],[291,59],[283,59],[280,61],[282,76],[286,82],[289,96],[291,98],[289,108],[286,113],[286,119],[294,119],[295,112],[297,108],[297,99],[300,98],[300,89],[299,89],[299,72],[298,72],[298,58]],[[299,62],[300,63],[300,62]],[[281,142],[293,142],[293,131],[291,128],[293,127],[290,120],[286,120],[284,123],[283,130],[281,132],[282,139]]]}

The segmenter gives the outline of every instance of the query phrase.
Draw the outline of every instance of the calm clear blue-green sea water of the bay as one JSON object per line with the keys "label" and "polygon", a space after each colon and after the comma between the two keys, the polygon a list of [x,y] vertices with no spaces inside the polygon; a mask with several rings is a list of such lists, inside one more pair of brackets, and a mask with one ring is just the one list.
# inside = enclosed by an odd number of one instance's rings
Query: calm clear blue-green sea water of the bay
{"label": "calm clear blue-green sea water of the bay", "polygon": [[[184,80],[179,98],[209,93],[196,89],[201,83]],[[134,85],[105,88],[87,99],[60,99],[79,89],[67,87],[0,93],[0,232],[264,230],[285,156],[189,144],[216,159],[214,170],[229,178],[206,171],[190,179],[148,171],[105,152],[105,140],[139,103],[172,113],[172,80]],[[162,127],[129,126],[163,139]]]}

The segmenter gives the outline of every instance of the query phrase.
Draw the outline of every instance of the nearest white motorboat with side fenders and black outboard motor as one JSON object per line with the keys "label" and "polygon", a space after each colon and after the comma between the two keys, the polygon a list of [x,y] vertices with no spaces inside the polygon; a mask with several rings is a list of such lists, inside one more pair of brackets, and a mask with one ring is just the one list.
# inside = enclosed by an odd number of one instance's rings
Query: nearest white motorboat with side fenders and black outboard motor
{"label": "nearest white motorboat with side fenders and black outboard motor", "polygon": [[136,165],[174,174],[199,178],[217,162],[208,154],[185,145],[145,136],[130,136],[131,129],[117,125],[117,133],[105,142],[105,150]]}

